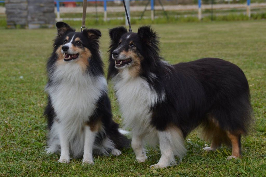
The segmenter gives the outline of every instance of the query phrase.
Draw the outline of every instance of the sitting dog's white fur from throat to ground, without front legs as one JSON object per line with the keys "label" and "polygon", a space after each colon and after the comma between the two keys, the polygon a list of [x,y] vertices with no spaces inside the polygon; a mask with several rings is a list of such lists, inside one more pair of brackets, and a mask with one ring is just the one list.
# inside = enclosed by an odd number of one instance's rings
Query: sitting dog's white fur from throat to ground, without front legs
{"label": "sitting dog's white fur from throat to ground, without front legs", "polygon": [[76,62],[58,65],[52,79],[52,84],[45,90],[51,96],[58,123],[54,123],[49,132],[47,151],[53,153],[58,150],[60,126],[70,142],[70,151],[74,157],[80,156],[84,146],[82,128],[93,114],[100,96],[107,91],[106,79],[82,72]]}

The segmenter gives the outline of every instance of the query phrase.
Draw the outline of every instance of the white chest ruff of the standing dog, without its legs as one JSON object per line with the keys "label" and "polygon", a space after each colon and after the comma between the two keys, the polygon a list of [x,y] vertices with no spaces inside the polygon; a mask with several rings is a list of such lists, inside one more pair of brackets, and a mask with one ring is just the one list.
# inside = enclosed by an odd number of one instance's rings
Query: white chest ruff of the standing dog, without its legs
{"label": "white chest ruff of the standing dog, without its legs", "polygon": [[114,89],[123,116],[123,123],[132,134],[145,136],[150,145],[158,142],[157,131],[151,126],[151,107],[159,97],[148,82],[141,78],[132,78],[128,69],[123,69],[114,78]]}

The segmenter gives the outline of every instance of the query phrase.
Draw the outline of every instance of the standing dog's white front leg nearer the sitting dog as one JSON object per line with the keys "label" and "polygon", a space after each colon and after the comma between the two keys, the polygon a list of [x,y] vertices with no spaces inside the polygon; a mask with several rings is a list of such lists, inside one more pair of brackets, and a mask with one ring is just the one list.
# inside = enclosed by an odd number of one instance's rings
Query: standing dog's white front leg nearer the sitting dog
{"label": "standing dog's white front leg nearer the sitting dog", "polygon": [[135,152],[136,161],[145,162],[145,160],[147,159],[147,156],[146,156],[146,150],[144,149],[143,137],[133,134],[131,146]]}

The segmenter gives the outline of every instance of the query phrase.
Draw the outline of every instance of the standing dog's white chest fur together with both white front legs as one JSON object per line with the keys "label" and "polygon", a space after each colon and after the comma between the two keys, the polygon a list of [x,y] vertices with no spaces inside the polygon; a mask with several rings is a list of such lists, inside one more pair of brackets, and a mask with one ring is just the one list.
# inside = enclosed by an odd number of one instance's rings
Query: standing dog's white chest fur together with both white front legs
{"label": "standing dog's white chest fur together with both white front legs", "polygon": [[[156,76],[150,73],[150,77]],[[113,82],[123,123],[132,130],[132,148],[136,154],[136,160],[144,162],[147,158],[142,143],[144,139],[152,146],[160,142],[162,156],[155,164],[156,167],[176,164],[174,155],[177,155],[181,161],[186,152],[181,130],[167,127],[164,131],[158,131],[151,125],[151,108],[166,98],[164,91],[160,98],[145,79],[132,78],[127,68],[119,72],[113,78]]]}

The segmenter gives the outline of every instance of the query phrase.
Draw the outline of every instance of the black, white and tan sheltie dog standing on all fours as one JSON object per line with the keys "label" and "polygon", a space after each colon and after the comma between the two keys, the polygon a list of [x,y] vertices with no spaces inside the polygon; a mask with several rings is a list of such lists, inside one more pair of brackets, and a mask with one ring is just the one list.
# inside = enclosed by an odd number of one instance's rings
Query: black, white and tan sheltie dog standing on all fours
{"label": "black, white and tan sheltie dog standing on all fours", "polygon": [[218,58],[202,58],[170,65],[159,55],[159,41],[151,27],[138,33],[124,27],[109,31],[108,79],[114,83],[124,124],[132,132],[136,160],[147,159],[145,141],[159,142],[161,158],[151,167],[176,164],[185,154],[184,138],[198,126],[212,141],[206,151],[222,143],[241,155],[240,137],[252,119],[250,92],[243,71]]}

